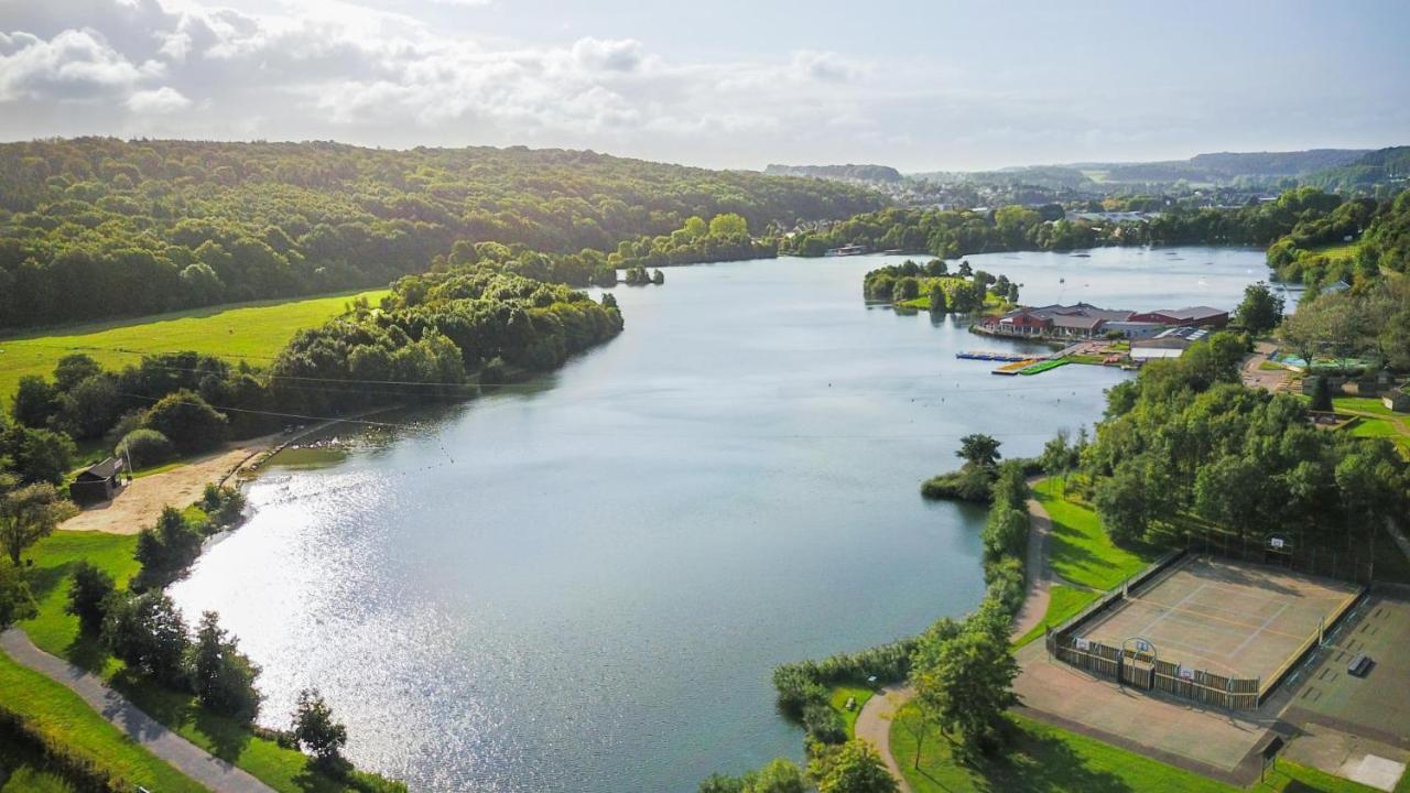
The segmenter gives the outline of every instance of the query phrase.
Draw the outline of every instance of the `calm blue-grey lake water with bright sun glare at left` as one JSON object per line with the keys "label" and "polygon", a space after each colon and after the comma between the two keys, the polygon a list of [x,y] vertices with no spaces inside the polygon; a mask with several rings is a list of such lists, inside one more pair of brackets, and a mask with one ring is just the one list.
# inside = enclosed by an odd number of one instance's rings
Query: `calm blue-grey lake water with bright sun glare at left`
{"label": "calm blue-grey lake water with bright sun glare at left", "polygon": [[[973,608],[983,512],[919,481],[984,432],[1008,456],[1125,377],[1003,378],[1012,341],[867,308],[901,257],[667,271],[554,375],[420,413],[331,466],[274,467],[172,595],[264,666],[262,721],[317,684],[361,766],[413,790],[688,792],[801,759],[771,669]],[[1026,303],[1234,308],[1253,250],[969,257]],[[1062,281],[1060,281],[1062,279]]]}

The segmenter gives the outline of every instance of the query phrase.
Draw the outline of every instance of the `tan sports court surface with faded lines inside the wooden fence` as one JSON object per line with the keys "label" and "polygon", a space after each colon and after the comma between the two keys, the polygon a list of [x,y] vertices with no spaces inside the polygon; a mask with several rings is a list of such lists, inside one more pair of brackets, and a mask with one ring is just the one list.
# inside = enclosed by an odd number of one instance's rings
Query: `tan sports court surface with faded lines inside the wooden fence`
{"label": "tan sports court surface with faded lines inside the wooden fence", "polygon": [[1081,638],[1148,641],[1160,660],[1270,683],[1356,597],[1352,584],[1277,569],[1187,557],[1132,590]]}

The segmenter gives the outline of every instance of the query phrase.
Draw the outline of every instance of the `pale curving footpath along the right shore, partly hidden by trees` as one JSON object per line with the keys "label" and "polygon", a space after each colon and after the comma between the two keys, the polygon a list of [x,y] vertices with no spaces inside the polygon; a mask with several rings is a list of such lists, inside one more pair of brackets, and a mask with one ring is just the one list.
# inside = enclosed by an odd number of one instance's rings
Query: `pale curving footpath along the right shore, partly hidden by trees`
{"label": "pale curving footpath along the right shore, partly hidden by trees", "polygon": [[[1034,480],[1028,483],[1029,487],[1034,484]],[[1028,515],[1026,569],[1031,574],[1028,577],[1028,594],[1024,597],[1024,605],[1014,617],[1012,635],[1015,638],[1032,631],[1043,621],[1043,615],[1048,614],[1048,601],[1053,581],[1052,567],[1048,564],[1048,538],[1052,533],[1052,518],[1036,498],[1028,500]],[[911,701],[912,697],[915,697],[915,689],[905,684],[893,684],[881,689],[877,696],[862,706],[862,713],[857,714],[854,728],[856,737],[871,744],[881,755],[887,769],[891,770],[891,776],[895,777],[901,793],[911,793],[911,785],[905,780],[905,775],[901,773],[895,756],[891,755],[891,720],[895,718],[897,711],[905,703]]]}

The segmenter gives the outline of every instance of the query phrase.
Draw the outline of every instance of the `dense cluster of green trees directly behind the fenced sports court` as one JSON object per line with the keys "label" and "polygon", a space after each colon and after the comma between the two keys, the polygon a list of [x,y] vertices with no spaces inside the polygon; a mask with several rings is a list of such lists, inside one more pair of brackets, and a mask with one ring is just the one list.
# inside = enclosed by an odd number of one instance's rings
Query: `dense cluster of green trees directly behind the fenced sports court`
{"label": "dense cluster of green trees directly behind the fenced sports court", "polygon": [[1300,398],[1244,387],[1245,349],[1217,333],[1110,391],[1081,470],[1114,539],[1179,540],[1194,516],[1253,547],[1275,531],[1347,547],[1410,507],[1387,440],[1320,430]]}

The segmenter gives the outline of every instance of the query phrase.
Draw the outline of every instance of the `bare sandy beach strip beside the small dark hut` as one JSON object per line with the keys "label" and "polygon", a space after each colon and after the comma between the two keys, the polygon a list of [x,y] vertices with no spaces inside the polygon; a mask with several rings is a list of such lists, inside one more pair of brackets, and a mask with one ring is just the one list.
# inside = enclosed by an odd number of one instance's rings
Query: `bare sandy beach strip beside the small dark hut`
{"label": "bare sandy beach strip beside the small dark hut", "polygon": [[128,483],[111,501],[94,504],[59,523],[70,532],[135,535],[157,522],[162,507],[186,507],[200,500],[206,484],[220,481],[238,466],[272,447],[278,436],[257,437],[227,446],[223,452],[197,457],[169,471]]}

